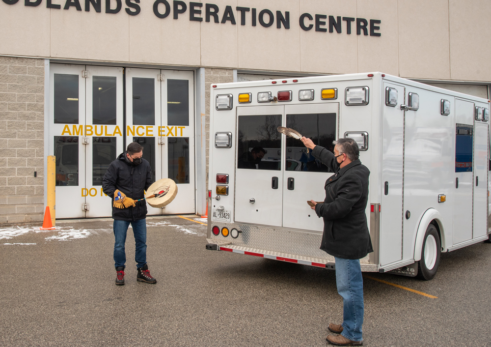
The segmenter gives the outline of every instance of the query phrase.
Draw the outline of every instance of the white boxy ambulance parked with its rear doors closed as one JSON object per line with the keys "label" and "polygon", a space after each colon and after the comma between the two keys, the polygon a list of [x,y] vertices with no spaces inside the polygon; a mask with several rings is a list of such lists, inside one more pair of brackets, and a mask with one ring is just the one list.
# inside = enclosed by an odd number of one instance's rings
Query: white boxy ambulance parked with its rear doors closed
{"label": "white boxy ambulance parked with its rear doors closed", "polygon": [[490,101],[380,72],[211,86],[206,248],[335,268],[320,250],[333,173],[300,142],[353,138],[370,170],[362,271],[435,276],[489,241]]}

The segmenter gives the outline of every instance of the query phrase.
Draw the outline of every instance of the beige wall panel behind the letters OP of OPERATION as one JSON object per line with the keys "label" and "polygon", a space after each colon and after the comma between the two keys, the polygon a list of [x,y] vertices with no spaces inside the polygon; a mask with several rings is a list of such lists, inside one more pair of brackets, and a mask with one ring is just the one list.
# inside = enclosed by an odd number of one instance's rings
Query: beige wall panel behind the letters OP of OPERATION
{"label": "beige wall panel behind the letters OP of OPERATION", "polygon": [[[130,18],[130,61],[160,64],[199,66],[199,23],[189,20],[188,9],[173,19],[172,1],[170,14],[158,18],[153,12],[154,1],[141,1],[141,12]],[[204,10],[204,4],[202,9]],[[163,4],[160,13],[165,12]]]}

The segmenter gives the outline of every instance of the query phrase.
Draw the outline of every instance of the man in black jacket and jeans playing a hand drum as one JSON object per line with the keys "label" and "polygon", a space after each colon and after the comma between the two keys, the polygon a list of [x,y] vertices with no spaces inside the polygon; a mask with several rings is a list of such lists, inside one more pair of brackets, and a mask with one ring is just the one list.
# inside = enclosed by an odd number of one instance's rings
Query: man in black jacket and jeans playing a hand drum
{"label": "man in black jacket and jeans playing a hand drum", "polygon": [[[153,183],[150,163],[142,159],[143,147],[136,142],[128,145],[127,150],[121,153],[108,168],[102,180],[102,188],[105,194],[114,202],[114,192],[119,190],[127,197],[138,200],[143,199],[144,190]],[[145,200],[136,202],[136,206],[116,208],[112,206],[112,218],[114,219],[114,266],[116,267],[116,285],[124,285],[124,269],[126,253],[124,245],[126,232],[131,224],[135,235],[135,261],[136,281],[145,283],[157,283],[150,275],[147,265],[147,205]]]}

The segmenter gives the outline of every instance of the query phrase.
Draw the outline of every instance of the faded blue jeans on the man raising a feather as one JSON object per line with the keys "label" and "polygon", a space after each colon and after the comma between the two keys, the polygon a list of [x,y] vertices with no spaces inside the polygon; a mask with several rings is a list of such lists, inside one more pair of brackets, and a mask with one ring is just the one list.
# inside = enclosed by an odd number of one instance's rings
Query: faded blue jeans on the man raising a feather
{"label": "faded blue jeans on the man raising a feather", "polygon": [[336,286],[343,298],[343,335],[352,341],[361,341],[363,324],[363,277],[360,260],[335,258]]}

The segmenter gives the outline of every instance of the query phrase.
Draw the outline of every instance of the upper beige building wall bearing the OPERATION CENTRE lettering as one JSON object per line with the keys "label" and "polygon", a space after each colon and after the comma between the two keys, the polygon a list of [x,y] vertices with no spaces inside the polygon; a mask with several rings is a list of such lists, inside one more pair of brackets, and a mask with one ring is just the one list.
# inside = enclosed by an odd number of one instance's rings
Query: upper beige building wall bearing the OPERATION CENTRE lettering
{"label": "upper beige building wall bearing the OPERATION CENTRE lettering", "polygon": [[[140,12],[129,15],[126,5],[117,14],[92,7],[47,8],[47,2],[25,6],[24,1],[0,1],[0,55],[77,59],[173,66],[217,67],[239,70],[303,73],[357,73],[382,71],[414,79],[491,82],[491,2],[475,0],[215,0],[219,23],[206,22],[205,3],[200,17],[190,20],[187,10],[158,18],[154,1],[140,1]],[[115,1],[109,1],[113,5]],[[231,6],[236,24],[223,22]],[[245,25],[237,6],[248,7]],[[160,5],[164,11],[164,5]],[[270,27],[252,25],[263,9],[274,14]],[[276,11],[289,12],[290,29],[277,28]],[[309,13],[313,29],[300,28],[299,18]],[[327,16],[315,30],[315,15]],[[351,34],[342,21],[341,32],[329,32],[328,16],[380,20],[381,36]],[[268,15],[266,15],[268,17]],[[35,34],[34,34],[35,33]]]}

